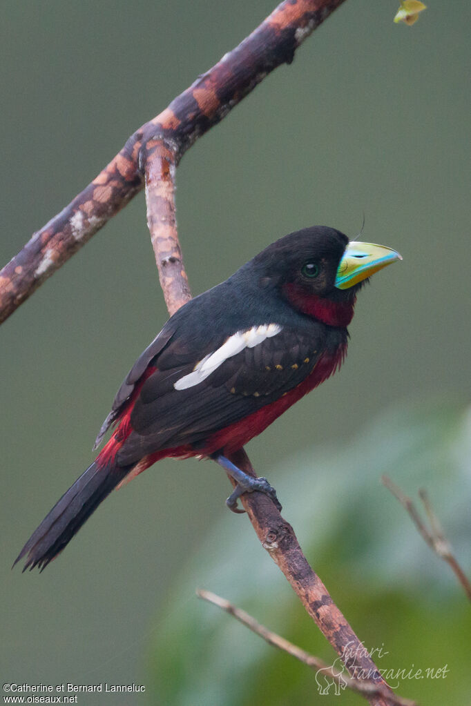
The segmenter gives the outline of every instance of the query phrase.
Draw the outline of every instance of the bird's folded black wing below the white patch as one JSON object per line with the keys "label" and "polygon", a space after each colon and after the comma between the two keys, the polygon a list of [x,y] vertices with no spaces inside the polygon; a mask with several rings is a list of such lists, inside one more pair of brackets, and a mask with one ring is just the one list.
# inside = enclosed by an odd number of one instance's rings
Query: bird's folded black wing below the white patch
{"label": "bird's folded black wing below the white patch", "polygon": [[215,431],[299,385],[324,349],[320,327],[302,332],[282,328],[277,335],[227,358],[200,383],[176,390],[174,383],[191,373],[198,359],[186,360],[177,341],[170,342],[157,356],[158,370],[145,381],[136,400],[131,414],[134,431],[119,451],[119,465],[137,462],[162,448],[203,447]]}

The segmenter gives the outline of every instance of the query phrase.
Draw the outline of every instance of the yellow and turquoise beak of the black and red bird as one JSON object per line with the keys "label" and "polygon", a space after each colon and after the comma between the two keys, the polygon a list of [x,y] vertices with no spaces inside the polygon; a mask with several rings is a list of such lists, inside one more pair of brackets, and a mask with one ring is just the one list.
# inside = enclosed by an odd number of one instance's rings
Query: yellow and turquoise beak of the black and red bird
{"label": "yellow and turquoise beak of the black and red bird", "polygon": [[347,245],[338,265],[335,287],[348,289],[370,277],[386,265],[403,258],[395,250],[374,243],[352,241]]}

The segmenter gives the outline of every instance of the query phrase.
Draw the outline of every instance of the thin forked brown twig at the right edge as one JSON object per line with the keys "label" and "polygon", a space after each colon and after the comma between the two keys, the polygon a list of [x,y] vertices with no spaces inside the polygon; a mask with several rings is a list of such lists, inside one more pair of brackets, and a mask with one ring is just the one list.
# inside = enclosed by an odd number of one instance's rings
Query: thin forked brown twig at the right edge
{"label": "thin forked brown twig at the right edge", "polygon": [[458,563],[455,554],[453,554],[453,548],[450,542],[448,542],[448,539],[445,537],[439,518],[436,516],[434,509],[431,507],[427,491],[423,488],[420,489],[419,498],[422,500],[424,510],[427,513],[430,529],[424,525],[424,522],[422,522],[422,518],[420,517],[419,512],[411,498],[405,495],[399,486],[393,483],[388,476],[382,476],[381,481],[383,482],[383,485],[386,486],[391,493],[393,493],[393,496],[398,499],[400,504],[403,505],[403,508],[407,510],[407,513],[410,515],[415,527],[417,527],[419,534],[422,535],[430,549],[434,551],[437,556],[443,559],[443,561],[446,561],[449,566],[451,566],[456,578],[458,578],[458,581],[463,586],[467,597],[471,601],[471,582]]}

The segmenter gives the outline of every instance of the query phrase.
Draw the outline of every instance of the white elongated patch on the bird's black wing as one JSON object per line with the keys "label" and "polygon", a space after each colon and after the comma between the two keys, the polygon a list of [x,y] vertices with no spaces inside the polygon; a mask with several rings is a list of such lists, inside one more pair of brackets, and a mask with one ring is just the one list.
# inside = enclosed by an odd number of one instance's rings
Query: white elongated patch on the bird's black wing
{"label": "white elongated patch on the bird's black wing", "polygon": [[237,331],[232,336],[229,336],[227,341],[213,353],[208,354],[199,361],[193,369],[193,372],[184,375],[183,378],[174,383],[175,390],[186,390],[199,385],[203,380],[208,378],[215,369],[219,368],[222,363],[228,358],[237,355],[244,348],[254,348],[262,343],[266,338],[280,333],[282,327],[278,323],[266,323],[262,326],[253,326],[246,331]]}

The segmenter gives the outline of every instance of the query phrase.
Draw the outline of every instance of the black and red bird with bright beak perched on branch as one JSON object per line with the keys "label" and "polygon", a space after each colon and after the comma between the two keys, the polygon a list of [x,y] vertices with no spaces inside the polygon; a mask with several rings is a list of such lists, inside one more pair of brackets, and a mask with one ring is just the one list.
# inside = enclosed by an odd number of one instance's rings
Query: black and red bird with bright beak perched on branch
{"label": "black and red bird with bright beak perched on branch", "polygon": [[126,376],[96,446],[102,452],[26,542],[43,569],[114,489],[165,457],[210,457],[244,492],[276,500],[227,456],[334,373],[347,352],[357,290],[400,259],[328,227],[281,238],[167,321]]}

